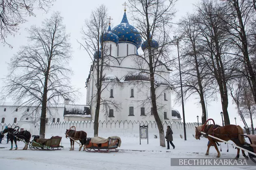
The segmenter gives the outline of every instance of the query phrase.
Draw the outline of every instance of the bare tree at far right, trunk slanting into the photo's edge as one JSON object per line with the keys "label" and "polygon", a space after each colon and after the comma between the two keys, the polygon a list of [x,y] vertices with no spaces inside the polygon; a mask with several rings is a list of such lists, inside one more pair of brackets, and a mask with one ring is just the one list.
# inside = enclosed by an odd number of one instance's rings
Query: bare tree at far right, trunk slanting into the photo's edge
{"label": "bare tree at far right, trunk slanting into the photo's edge", "polygon": [[226,23],[230,29],[232,54],[241,60],[246,70],[254,101],[256,102],[256,74],[250,55],[255,55],[255,1],[253,0],[222,0],[226,14],[230,17]]}

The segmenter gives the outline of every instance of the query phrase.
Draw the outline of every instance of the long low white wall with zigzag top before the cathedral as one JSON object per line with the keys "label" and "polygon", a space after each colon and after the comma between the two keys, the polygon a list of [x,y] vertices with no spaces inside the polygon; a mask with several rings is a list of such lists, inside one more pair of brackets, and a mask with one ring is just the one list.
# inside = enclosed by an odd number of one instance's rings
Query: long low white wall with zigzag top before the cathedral
{"label": "long low white wall with zigzag top before the cathedral", "polygon": [[[17,126],[20,128],[24,125],[24,127],[28,127],[26,123],[21,122],[22,124],[17,123]],[[164,131],[166,132],[167,125],[171,126],[174,137],[179,138],[181,134],[184,136],[184,128],[183,123],[176,123],[176,122],[162,122]],[[150,138],[157,135],[159,137],[158,128],[154,121],[100,121],[99,122],[99,136],[131,136],[131,137],[139,137],[139,125],[148,125],[148,134]],[[200,124],[202,125],[202,124]],[[0,123],[0,131],[7,126],[6,124]],[[93,121],[64,121],[59,123],[48,123],[46,126],[46,136],[51,137],[53,135],[60,135],[63,134],[65,136],[65,132],[70,127],[75,126],[76,130],[83,130],[87,132],[88,137],[93,137]],[[195,126],[197,123],[186,123],[186,133],[187,136],[195,134]],[[15,127],[14,124],[8,125],[8,127]],[[25,130],[25,129],[24,129]],[[37,124],[36,127],[33,124],[30,124],[30,133],[32,135],[39,135],[39,125]],[[138,138],[139,140],[139,138]]]}

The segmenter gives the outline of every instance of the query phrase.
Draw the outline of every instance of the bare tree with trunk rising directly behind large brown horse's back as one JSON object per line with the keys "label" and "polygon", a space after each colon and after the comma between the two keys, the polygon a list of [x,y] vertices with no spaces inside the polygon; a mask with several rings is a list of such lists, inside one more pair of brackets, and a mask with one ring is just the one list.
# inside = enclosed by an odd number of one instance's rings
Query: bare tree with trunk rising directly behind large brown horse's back
{"label": "bare tree with trunk rising directly behind large brown horse's back", "polygon": [[202,0],[197,6],[197,27],[202,36],[200,53],[208,67],[208,75],[218,85],[225,125],[229,125],[227,82],[232,70],[232,58],[227,54],[229,43],[225,20],[228,18],[223,17],[225,13],[225,8],[217,0]]}

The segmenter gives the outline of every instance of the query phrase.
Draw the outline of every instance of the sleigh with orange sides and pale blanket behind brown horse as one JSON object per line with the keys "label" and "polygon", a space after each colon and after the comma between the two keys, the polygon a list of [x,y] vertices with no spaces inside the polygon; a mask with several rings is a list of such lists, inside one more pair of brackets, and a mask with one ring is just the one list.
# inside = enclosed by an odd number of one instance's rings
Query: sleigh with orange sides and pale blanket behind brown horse
{"label": "sleigh with orange sides and pale blanket behind brown horse", "polygon": [[85,151],[110,153],[118,152],[117,147],[121,146],[121,139],[118,136],[110,136],[108,138],[94,137],[86,138]]}

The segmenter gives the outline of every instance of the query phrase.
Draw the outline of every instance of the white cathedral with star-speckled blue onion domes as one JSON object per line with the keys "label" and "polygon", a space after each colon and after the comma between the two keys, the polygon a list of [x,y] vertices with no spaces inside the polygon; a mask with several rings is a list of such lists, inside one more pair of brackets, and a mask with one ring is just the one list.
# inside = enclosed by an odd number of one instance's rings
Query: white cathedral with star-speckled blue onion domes
{"label": "white cathedral with star-speckled blue onion domes", "polygon": [[[105,53],[102,79],[101,105],[99,121],[154,121],[150,101],[150,77],[148,73],[148,42],[142,43],[142,38],[135,27],[131,26],[126,16],[126,10],[121,23],[111,29],[110,23],[103,41],[109,49]],[[138,54],[138,49],[144,55]],[[158,42],[152,40],[151,48],[158,47]],[[87,105],[91,108],[91,119],[94,119],[96,108],[95,61],[101,60],[94,55],[87,78]],[[171,87],[169,84],[170,69],[163,63],[156,68],[155,87],[158,115],[161,121],[181,121],[177,110],[171,108]],[[143,70],[143,71],[142,71]],[[113,105],[114,103],[114,105]],[[118,106],[116,108],[115,106]]]}

